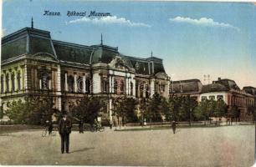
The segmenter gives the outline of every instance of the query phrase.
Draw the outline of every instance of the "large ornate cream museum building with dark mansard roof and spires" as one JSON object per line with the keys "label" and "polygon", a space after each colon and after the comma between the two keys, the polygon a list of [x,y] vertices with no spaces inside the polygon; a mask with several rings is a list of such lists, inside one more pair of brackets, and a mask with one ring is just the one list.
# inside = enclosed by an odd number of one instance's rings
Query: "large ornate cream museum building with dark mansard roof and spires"
{"label": "large ornate cream museum building with dark mansard roof and spires", "polygon": [[103,44],[53,40],[48,31],[23,28],[2,38],[1,106],[26,96],[49,95],[54,109],[67,110],[84,95],[99,96],[111,118],[116,97],[169,97],[162,59],[136,58]]}

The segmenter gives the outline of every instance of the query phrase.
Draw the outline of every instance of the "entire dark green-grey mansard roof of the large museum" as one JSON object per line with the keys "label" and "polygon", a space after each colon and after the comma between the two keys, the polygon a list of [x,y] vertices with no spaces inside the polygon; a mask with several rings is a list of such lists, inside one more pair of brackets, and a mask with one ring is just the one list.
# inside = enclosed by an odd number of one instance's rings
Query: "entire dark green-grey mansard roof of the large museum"
{"label": "entire dark green-grey mansard roof of the large museum", "polygon": [[[2,38],[2,60],[23,54],[38,55],[47,53],[67,63],[110,63],[116,56],[121,57],[125,65],[134,68],[136,73],[156,75],[166,73],[162,59],[156,57],[135,58],[119,53],[118,48],[104,44],[86,46],[52,40],[49,31],[36,28],[23,28]],[[40,54],[42,56],[42,54]]]}

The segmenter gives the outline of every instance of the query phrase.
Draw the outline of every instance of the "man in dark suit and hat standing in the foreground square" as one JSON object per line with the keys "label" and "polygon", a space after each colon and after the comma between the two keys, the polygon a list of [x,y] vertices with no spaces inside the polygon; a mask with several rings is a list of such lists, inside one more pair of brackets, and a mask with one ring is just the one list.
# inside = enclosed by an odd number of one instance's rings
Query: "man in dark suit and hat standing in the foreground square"
{"label": "man in dark suit and hat standing in the foreground square", "polygon": [[61,138],[62,154],[64,154],[64,149],[66,150],[66,153],[69,154],[69,134],[71,133],[71,127],[71,120],[67,118],[67,114],[64,114],[63,118],[59,120],[59,135]]}

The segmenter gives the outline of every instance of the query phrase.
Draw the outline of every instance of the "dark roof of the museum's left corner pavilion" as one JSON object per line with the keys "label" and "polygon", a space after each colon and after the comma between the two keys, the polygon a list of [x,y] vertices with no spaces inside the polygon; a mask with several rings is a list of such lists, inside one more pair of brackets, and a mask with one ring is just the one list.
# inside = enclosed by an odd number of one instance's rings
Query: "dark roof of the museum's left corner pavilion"
{"label": "dark roof of the museum's left corner pavilion", "polygon": [[23,28],[2,38],[2,60],[25,53],[49,53],[55,57],[50,33],[36,28]]}

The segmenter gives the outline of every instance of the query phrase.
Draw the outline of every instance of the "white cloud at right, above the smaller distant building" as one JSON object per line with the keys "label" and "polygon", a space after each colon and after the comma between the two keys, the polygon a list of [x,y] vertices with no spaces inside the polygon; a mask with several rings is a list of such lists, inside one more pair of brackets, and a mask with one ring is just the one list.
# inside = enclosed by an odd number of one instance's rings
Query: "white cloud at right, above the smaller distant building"
{"label": "white cloud at right, above the smaller distant building", "polygon": [[176,18],[169,18],[169,21],[175,22],[175,23],[190,23],[193,25],[206,26],[206,27],[233,28],[239,31],[239,28],[234,27],[231,24],[218,23],[218,22],[215,22],[212,18],[192,19],[192,18],[183,18],[178,16]]}

